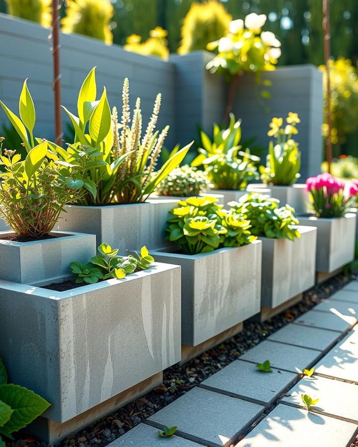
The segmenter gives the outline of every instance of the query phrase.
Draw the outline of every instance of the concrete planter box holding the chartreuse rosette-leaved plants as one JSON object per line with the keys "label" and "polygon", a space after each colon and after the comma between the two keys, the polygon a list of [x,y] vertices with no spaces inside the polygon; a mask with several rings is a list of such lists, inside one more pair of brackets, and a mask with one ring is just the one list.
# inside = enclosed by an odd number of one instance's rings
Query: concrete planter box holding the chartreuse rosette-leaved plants
{"label": "concrete planter box holding the chartreuse rosette-leaved plants", "polygon": [[261,242],[184,255],[152,250],[181,266],[181,339],[197,346],[260,310]]}

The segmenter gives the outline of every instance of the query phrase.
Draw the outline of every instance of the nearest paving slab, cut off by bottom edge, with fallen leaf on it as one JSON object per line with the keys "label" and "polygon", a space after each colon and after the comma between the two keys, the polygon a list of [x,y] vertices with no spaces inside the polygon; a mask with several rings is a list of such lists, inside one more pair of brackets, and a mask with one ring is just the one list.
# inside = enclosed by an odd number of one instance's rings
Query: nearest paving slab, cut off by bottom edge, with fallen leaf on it
{"label": "nearest paving slab, cut off by bottom edge, with fallen leaf on it", "polygon": [[167,446],[168,443],[171,447],[199,447],[200,444],[196,444],[179,436],[173,435],[170,438],[162,438],[158,435],[158,429],[146,424],[139,424],[132,430],[129,430],[125,435],[116,439],[112,443],[108,444],[108,447],[161,447]]}

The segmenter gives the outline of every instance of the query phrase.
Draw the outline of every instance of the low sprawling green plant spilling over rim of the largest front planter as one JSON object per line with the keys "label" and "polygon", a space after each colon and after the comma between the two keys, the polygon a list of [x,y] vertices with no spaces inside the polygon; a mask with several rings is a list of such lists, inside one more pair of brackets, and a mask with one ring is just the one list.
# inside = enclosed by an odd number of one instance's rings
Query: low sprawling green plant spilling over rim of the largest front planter
{"label": "low sprawling green plant spilling over rim of the largest front planter", "polygon": [[110,278],[122,279],[131,273],[150,268],[154,262],[145,246],[141,248],[140,254],[136,253],[137,257],[117,256],[118,249],[106,243],[100,244],[97,250],[99,254],[93,256],[88,264],[71,262],[72,273],[77,275],[76,283],[93,284]]}

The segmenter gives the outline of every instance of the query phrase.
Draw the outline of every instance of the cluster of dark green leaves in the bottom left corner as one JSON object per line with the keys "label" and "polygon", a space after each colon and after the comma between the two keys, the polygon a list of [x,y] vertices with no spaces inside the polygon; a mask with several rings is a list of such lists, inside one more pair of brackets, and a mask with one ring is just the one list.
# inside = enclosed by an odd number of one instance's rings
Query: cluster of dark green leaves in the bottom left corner
{"label": "cluster of dark green leaves in the bottom left corner", "polygon": [[[12,438],[12,433],[26,427],[50,404],[23,386],[7,383],[7,373],[0,359],[0,435]],[[5,446],[1,441],[0,446]]]}

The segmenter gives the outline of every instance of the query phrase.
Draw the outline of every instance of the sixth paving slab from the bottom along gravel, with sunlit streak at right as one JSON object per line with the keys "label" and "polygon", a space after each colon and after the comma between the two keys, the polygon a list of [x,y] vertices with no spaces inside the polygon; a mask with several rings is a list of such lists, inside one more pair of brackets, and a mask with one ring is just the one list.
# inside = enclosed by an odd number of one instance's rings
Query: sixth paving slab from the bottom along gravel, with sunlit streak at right
{"label": "sixth paving slab from the bottom along gravel, with sunlit streak at right", "polygon": [[[351,313],[348,310],[352,305],[354,304],[327,300],[315,306],[314,310],[309,310],[298,317],[294,320],[294,324],[331,329],[342,333],[348,331],[358,321],[357,316],[354,315],[356,311]],[[318,308],[318,306],[320,307]]]}

